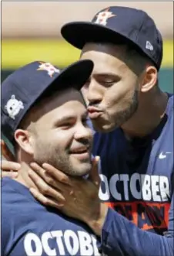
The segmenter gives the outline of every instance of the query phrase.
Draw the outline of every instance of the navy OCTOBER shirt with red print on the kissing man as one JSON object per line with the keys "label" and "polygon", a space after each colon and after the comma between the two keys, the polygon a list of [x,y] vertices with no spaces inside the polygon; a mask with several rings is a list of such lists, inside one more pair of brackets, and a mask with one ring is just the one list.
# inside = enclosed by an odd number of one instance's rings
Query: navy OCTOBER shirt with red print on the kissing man
{"label": "navy OCTOBER shirt with red print on the kissing man", "polygon": [[93,155],[101,159],[99,198],[112,208],[102,247],[118,256],[173,255],[173,96],[151,135],[128,141],[120,128],[95,133]]}

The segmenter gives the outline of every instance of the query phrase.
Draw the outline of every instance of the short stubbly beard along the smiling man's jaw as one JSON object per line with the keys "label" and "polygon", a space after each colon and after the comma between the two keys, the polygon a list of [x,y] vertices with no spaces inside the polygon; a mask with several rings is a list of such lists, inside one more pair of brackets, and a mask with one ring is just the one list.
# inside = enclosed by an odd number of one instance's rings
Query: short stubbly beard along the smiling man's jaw
{"label": "short stubbly beard along the smiling man's jaw", "polygon": [[55,148],[51,143],[45,143],[42,138],[38,137],[35,141],[34,161],[39,166],[42,166],[44,162],[49,163],[69,176],[85,176],[92,167],[91,161],[75,163],[69,155],[69,150]]}

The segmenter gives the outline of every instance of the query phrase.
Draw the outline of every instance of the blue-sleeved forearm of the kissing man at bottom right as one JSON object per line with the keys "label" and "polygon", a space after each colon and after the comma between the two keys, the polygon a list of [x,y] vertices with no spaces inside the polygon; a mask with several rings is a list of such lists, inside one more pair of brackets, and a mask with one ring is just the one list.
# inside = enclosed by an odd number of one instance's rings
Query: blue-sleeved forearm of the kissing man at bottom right
{"label": "blue-sleeved forearm of the kissing man at bottom right", "polygon": [[99,235],[100,232],[101,247],[105,254],[115,252],[118,256],[173,256],[173,234],[172,237],[162,237],[140,230],[112,209],[92,229],[95,234]]}

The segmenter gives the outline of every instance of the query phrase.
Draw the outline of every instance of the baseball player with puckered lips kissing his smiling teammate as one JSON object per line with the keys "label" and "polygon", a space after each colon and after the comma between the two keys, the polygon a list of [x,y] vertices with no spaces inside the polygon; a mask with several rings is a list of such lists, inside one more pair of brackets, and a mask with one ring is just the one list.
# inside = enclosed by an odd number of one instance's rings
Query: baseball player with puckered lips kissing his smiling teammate
{"label": "baseball player with puckered lips kissing his smiling teammate", "polygon": [[[65,24],[62,36],[94,63],[82,91],[101,159],[99,199],[86,193],[89,183],[79,189],[64,176],[73,193],[62,212],[88,224],[105,254],[172,256],[173,95],[159,88],[162,36],[146,12],[119,6]],[[41,180],[37,187],[42,201]]]}

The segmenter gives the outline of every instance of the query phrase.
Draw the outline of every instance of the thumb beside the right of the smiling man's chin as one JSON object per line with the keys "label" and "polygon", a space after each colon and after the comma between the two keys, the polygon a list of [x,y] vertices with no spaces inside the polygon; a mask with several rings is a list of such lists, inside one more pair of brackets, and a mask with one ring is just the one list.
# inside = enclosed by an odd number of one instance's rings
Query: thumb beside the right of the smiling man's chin
{"label": "thumb beside the right of the smiling man's chin", "polygon": [[89,180],[92,181],[92,183],[95,184],[99,188],[100,186],[100,178],[99,178],[99,156],[95,156],[94,159],[92,159],[92,169],[89,173]]}

